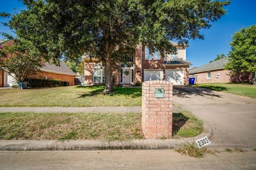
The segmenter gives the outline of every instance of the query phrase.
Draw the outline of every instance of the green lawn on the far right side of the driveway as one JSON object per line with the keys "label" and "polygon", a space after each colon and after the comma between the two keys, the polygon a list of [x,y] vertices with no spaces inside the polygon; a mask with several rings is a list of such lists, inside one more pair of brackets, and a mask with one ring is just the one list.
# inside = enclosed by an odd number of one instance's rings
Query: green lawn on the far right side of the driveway
{"label": "green lawn on the far right side of the driveway", "polygon": [[216,91],[229,92],[230,94],[256,98],[256,86],[249,84],[199,83],[195,84],[194,87],[203,87]]}

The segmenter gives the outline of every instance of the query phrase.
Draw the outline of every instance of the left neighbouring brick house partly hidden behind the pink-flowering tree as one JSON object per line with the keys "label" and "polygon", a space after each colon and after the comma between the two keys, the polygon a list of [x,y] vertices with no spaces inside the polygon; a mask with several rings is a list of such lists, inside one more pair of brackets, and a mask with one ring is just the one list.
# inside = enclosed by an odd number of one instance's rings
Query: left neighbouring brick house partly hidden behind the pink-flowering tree
{"label": "left neighbouring brick house partly hidden behind the pink-flowering tree", "polygon": [[[60,62],[60,66],[45,63],[45,66],[30,78],[58,79],[69,82],[69,86],[74,86],[75,75],[76,73],[69,69],[64,62]],[[15,80],[10,74],[0,71],[0,87],[11,87],[14,83]]]}

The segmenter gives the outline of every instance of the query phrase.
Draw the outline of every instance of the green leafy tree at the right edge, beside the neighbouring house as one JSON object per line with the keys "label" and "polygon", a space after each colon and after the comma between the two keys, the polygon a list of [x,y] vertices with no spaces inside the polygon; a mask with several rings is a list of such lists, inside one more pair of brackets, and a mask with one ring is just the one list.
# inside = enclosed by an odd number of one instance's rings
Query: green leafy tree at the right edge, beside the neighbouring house
{"label": "green leafy tree at the right edge, beside the neighbouring house", "polygon": [[255,76],[256,72],[256,25],[242,28],[235,32],[230,43],[227,70],[234,73],[249,72]]}

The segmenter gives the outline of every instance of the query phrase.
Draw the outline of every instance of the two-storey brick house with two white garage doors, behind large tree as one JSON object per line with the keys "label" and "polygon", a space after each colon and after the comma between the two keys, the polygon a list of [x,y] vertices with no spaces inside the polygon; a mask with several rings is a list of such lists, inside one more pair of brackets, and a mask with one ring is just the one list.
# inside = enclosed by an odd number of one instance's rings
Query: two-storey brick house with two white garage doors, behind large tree
{"label": "two-storey brick house with two white garage doors, behind large tree", "polygon": [[[149,53],[148,47],[138,45],[132,54],[123,58],[130,64],[119,63],[121,69],[113,72],[116,85],[135,84],[150,80],[171,81],[174,85],[189,84],[189,66],[186,60],[186,47],[172,42],[177,53],[161,56],[160,52]],[[104,67],[96,58],[84,56],[85,85],[92,86],[105,82]]]}

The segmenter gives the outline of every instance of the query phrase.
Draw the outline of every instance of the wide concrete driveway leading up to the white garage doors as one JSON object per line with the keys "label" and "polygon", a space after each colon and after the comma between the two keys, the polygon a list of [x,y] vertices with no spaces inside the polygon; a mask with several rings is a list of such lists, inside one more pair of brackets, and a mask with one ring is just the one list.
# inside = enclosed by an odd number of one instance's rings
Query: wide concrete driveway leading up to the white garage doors
{"label": "wide concrete driveway leading up to the white garage doors", "polygon": [[204,88],[174,87],[173,103],[212,130],[212,146],[256,148],[256,99]]}

